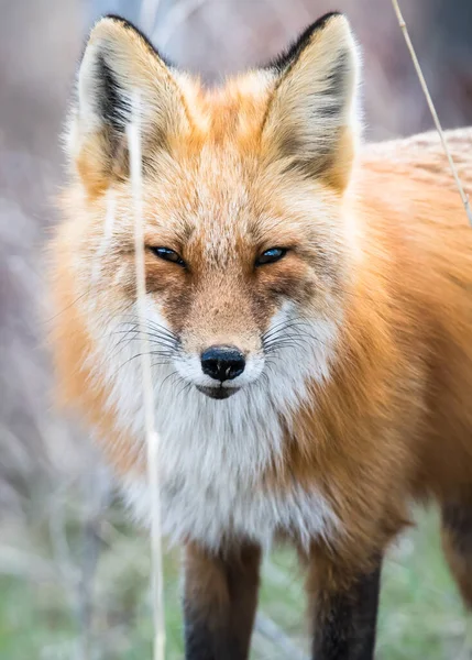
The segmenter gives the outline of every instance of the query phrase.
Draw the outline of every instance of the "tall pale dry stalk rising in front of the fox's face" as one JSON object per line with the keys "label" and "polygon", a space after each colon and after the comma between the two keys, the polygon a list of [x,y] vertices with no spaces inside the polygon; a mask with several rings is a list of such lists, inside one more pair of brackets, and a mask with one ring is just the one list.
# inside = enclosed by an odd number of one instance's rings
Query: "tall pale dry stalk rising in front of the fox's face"
{"label": "tall pale dry stalk rising in front of the fox's face", "polygon": [[151,499],[151,562],[154,615],[154,660],[165,657],[165,622],[163,598],[163,561],[161,536],[161,497],[158,484],[160,438],[154,424],[154,393],[151,374],[150,345],[146,332],[146,282],[144,268],[144,230],[142,197],[142,157],[140,99],[133,99],[133,117],[127,127],[130,152],[131,187],[134,205],[134,258],[136,271],[138,316],[141,336],[141,371],[143,378],[143,406],[147,447],[147,481]]}

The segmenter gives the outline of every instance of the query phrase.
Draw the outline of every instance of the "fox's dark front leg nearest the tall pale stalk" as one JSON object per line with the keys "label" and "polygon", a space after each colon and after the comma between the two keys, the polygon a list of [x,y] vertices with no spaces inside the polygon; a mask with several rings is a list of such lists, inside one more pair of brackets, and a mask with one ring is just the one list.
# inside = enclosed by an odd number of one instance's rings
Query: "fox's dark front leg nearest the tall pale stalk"
{"label": "fox's dark front leg nearest the tall pale stalk", "polygon": [[186,660],[246,660],[257,603],[261,550],[244,543],[209,553],[188,544],[185,558]]}

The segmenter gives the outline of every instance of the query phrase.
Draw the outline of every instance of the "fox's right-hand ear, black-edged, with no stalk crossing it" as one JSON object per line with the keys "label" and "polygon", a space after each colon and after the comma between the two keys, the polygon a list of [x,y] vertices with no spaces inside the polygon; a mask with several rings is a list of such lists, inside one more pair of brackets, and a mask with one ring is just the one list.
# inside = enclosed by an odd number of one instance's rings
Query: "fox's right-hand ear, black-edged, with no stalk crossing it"
{"label": "fox's right-hand ear, black-edged, with no stalk crossing it", "polygon": [[348,20],[327,14],[268,68],[275,88],[262,139],[270,157],[343,189],[358,133],[359,56]]}

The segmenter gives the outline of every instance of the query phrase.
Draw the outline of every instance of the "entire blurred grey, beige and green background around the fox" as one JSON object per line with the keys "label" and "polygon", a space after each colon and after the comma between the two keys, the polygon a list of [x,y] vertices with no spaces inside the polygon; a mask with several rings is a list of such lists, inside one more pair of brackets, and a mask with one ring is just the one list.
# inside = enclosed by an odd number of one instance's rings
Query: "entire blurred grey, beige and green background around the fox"
{"label": "entire blurred grey, beige and green background around the fox", "polygon": [[[446,128],[472,123],[472,2],[403,2]],[[103,13],[145,31],[209,84],[266,62],[326,11],[364,53],[366,139],[432,127],[389,0],[0,0],[0,658],[151,658],[144,532],[77,419],[54,410],[44,336],[44,244],[65,177],[59,134],[84,40]],[[301,580],[288,551],[264,566],[253,658],[304,657]],[[168,658],[182,658],[178,556],[166,557]],[[435,512],[392,550],[378,658],[468,657],[465,618]],[[462,656],[461,656],[462,653]]]}

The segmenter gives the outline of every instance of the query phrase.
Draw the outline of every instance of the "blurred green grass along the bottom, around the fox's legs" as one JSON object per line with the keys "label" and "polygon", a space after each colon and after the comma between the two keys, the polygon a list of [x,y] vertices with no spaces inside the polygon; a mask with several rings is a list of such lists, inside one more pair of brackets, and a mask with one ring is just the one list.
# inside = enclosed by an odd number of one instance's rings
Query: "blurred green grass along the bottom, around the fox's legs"
{"label": "blurred green grass along the bottom, around the fox's legs", "polygon": [[[73,526],[68,530],[72,546],[76,535]],[[42,548],[42,552],[37,548]],[[22,552],[28,551],[25,559]],[[74,569],[63,566],[59,571],[61,562],[57,558],[51,561],[51,548],[37,529],[19,549],[19,556],[22,560],[13,562],[18,564],[14,571],[6,570],[0,552],[0,566],[3,565],[0,658],[72,660],[78,657],[79,590],[74,586]],[[28,557],[31,557],[30,562]],[[76,569],[79,565],[78,554],[73,558],[73,564]],[[167,554],[165,564],[167,659],[177,660],[183,657],[178,554]],[[151,658],[149,568],[146,538],[127,526],[108,524],[91,592],[91,646],[99,651],[91,658]],[[66,586],[66,582],[70,585]],[[307,648],[303,580],[296,558],[288,550],[275,552],[265,563],[260,607],[296,646]],[[464,630],[462,605],[440,550],[437,518],[424,514],[418,528],[397,543],[385,563],[377,657],[383,660],[457,659]],[[260,632],[254,635],[253,647],[254,660],[286,657]]]}

